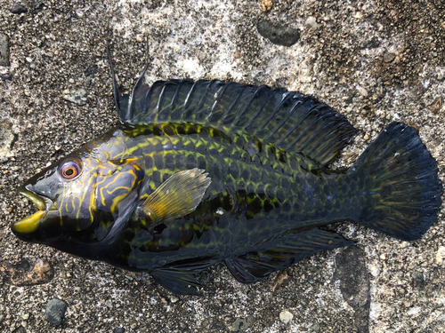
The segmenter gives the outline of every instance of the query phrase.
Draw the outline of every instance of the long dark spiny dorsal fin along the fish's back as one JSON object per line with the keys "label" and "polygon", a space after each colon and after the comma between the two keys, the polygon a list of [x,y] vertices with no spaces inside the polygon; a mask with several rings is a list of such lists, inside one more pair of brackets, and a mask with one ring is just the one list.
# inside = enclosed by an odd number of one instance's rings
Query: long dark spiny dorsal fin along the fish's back
{"label": "long dark spiny dorsal fin along the fish's back", "polygon": [[[222,81],[172,80],[134,87],[123,123],[198,123],[251,135],[325,166],[355,130],[343,115],[311,96],[285,89]],[[124,103],[123,103],[124,105]]]}

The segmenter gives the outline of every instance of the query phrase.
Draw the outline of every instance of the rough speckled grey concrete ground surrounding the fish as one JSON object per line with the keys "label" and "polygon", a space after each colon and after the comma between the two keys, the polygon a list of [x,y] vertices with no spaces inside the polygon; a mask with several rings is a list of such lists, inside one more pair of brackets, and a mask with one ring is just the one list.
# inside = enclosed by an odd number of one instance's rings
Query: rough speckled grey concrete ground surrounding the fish
{"label": "rough speckled grey concrete ground surrounding the fish", "polygon": [[[34,211],[25,178],[117,123],[103,44],[130,89],[146,80],[224,79],[312,94],[358,131],[350,165],[384,125],[416,126],[444,179],[445,3],[430,1],[0,0],[9,67],[0,67],[0,329],[4,332],[444,332],[444,210],[417,242],[333,226],[355,250],[323,252],[267,281],[241,285],[223,265],[199,276],[205,297],[177,297],[151,278],[16,239]],[[260,20],[299,29],[292,46],[259,35]],[[276,43],[276,41],[274,41]],[[4,52],[0,52],[4,54]],[[84,89],[82,102],[64,99]],[[80,93],[80,92],[79,92]],[[41,283],[41,284],[34,284]],[[60,327],[44,319],[68,303]],[[281,315],[280,315],[281,313]],[[285,323],[287,322],[287,323]],[[121,329],[119,329],[121,328]]]}

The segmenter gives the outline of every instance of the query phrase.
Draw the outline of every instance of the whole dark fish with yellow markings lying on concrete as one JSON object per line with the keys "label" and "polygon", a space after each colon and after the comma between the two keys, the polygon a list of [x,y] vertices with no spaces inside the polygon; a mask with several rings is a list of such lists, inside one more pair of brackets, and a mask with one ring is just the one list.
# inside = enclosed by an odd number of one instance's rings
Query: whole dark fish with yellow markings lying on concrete
{"label": "whole dark fish with yellow markings lying on concrete", "polygon": [[69,254],[148,272],[179,295],[224,262],[263,281],[354,242],[352,221],[421,238],[441,207],[437,162],[405,123],[389,123],[351,167],[332,163],[356,130],[312,96],[220,80],[173,79],[120,91],[117,127],[29,178],[36,206],[12,233]]}

